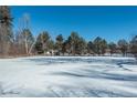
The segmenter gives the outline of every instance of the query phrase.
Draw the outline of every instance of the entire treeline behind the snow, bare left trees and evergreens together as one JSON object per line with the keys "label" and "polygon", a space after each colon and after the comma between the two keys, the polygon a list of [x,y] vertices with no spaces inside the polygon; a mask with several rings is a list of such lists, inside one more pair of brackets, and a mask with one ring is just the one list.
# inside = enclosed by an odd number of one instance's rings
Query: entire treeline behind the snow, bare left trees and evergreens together
{"label": "entire treeline behind the snow, bare left trees and evergreens together", "polygon": [[42,31],[38,37],[32,34],[30,17],[27,13],[18,21],[19,29],[15,33],[12,31],[12,21],[10,7],[1,6],[0,56],[31,54],[104,55],[106,53],[110,55],[120,53],[125,56],[129,53],[137,58],[137,35],[133,37],[130,41],[122,39],[115,43],[107,42],[99,37],[93,41],[86,41],[73,31],[67,39],[59,34],[55,40],[52,40],[48,31]]}

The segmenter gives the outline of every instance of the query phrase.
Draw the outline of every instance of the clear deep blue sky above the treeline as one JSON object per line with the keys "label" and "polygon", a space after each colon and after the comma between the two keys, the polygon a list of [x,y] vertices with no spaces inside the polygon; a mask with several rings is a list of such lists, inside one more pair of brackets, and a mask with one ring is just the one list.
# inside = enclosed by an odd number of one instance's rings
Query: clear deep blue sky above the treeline
{"label": "clear deep blue sky above the treeline", "polygon": [[116,42],[128,40],[137,33],[137,7],[11,7],[14,18],[14,31],[18,29],[19,18],[29,13],[31,30],[34,35],[41,31],[49,31],[55,39],[63,34],[66,39],[72,31],[86,40],[102,37]]}

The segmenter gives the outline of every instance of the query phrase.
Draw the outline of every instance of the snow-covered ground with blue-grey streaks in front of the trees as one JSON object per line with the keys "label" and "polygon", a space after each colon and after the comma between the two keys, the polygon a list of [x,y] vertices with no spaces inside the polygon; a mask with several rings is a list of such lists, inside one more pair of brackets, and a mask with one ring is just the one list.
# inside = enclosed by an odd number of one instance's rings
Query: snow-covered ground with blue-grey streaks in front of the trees
{"label": "snow-covered ground with blue-grey streaks in front of the trees", "polygon": [[0,59],[0,96],[137,96],[133,58]]}

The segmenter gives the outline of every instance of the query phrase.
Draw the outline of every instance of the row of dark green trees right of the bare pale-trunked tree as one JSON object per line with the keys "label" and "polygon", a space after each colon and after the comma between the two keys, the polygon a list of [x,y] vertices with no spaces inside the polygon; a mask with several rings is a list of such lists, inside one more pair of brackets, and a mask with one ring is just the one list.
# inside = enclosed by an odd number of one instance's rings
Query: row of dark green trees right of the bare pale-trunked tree
{"label": "row of dark green trees right of the bare pale-trunked tree", "polygon": [[117,43],[107,42],[105,39],[97,37],[93,41],[86,41],[77,32],[72,32],[67,39],[59,34],[53,41],[50,34],[42,32],[35,42],[38,53],[46,53],[50,50],[55,51],[56,55],[104,55],[104,54],[137,54],[137,35],[130,42],[122,39]]}

